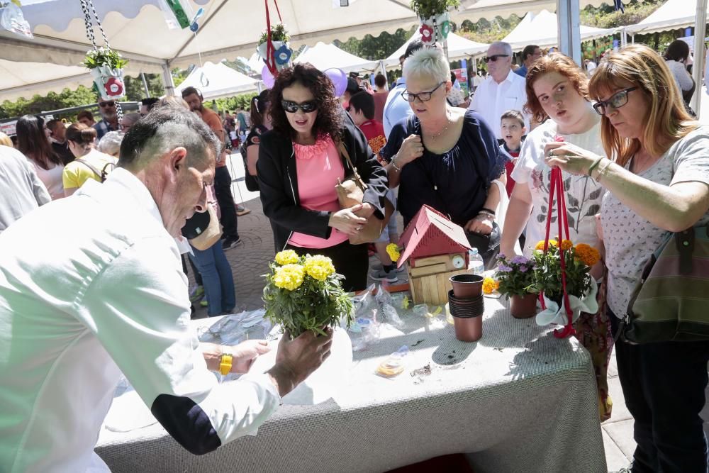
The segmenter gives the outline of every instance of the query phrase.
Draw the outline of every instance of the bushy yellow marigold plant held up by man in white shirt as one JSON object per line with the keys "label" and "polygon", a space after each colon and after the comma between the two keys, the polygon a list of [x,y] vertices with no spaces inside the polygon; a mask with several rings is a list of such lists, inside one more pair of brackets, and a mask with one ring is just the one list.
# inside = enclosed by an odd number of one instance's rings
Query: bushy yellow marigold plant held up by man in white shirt
{"label": "bushy yellow marigold plant held up by man in white shirt", "polygon": [[[354,321],[352,299],[342,289],[344,277],[334,272],[330,259],[324,258],[329,262],[330,271],[321,273],[321,280],[311,276],[308,270],[313,264],[309,255],[298,257],[292,250],[279,255],[288,253],[291,253],[291,259],[280,260],[284,265],[272,262],[269,273],[264,275],[266,318],[272,323],[283,325],[291,338],[307,330],[325,335],[323,328],[335,328],[342,319],[349,327]],[[280,272],[290,273],[283,275]],[[294,274],[299,274],[297,280],[291,277]]]}

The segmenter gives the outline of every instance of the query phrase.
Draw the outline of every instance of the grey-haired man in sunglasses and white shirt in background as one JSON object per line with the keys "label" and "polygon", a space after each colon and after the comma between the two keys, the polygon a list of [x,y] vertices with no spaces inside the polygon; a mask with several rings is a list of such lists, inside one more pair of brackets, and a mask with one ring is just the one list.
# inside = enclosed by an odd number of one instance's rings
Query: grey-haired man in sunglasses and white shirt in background
{"label": "grey-haired man in sunglasses and white shirt in background", "polygon": [[475,89],[469,109],[480,113],[490,128],[502,139],[500,117],[508,110],[518,110],[530,130],[530,115],[525,113],[527,91],[525,78],[512,70],[512,47],[508,43],[492,43],[483,57],[488,67],[488,77]]}

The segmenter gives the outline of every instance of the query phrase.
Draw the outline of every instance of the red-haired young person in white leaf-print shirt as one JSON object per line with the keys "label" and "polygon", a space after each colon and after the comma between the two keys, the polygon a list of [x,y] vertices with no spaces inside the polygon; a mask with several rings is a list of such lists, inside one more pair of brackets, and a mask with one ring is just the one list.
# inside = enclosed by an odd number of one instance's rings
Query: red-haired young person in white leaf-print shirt
{"label": "red-haired young person in white leaf-print shirt", "polygon": [[[515,243],[527,228],[523,249],[529,257],[540,240],[544,240],[549,212],[549,184],[552,168],[545,162],[545,146],[558,137],[581,148],[603,153],[601,143],[601,117],[593,111],[588,99],[588,77],[574,60],[554,53],[540,57],[527,70],[527,104],[537,123],[542,123],[527,135],[520,157],[511,177],[515,188],[502,232],[501,252],[513,255]],[[546,120],[546,121],[545,121]],[[564,199],[569,219],[569,236],[574,243],[586,243],[603,250],[596,231],[596,214],[601,209],[603,188],[586,176],[562,173]],[[554,206],[554,211],[556,206]],[[552,215],[556,215],[552,213]],[[552,224],[550,238],[557,235],[556,221]],[[593,268],[593,277],[603,277],[603,264]],[[599,296],[603,305],[603,296]],[[582,313],[576,321],[576,332],[581,343],[591,353],[598,386],[598,407],[601,420],[610,418],[613,402],[608,395],[608,362],[610,361],[610,338],[608,318],[603,311],[599,315]]]}

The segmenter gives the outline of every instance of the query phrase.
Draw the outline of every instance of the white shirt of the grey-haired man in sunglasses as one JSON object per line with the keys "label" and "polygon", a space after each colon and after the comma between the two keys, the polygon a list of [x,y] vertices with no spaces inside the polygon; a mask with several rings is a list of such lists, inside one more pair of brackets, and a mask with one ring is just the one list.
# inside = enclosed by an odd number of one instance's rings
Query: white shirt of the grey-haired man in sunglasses
{"label": "white shirt of the grey-haired man in sunglasses", "polygon": [[510,70],[501,84],[495,82],[495,79],[489,75],[475,89],[468,108],[483,116],[490,128],[495,131],[498,140],[502,138],[500,117],[508,110],[520,111],[525,118],[527,131],[530,130],[530,115],[524,111],[524,106],[527,103],[525,84],[524,77],[520,77]]}

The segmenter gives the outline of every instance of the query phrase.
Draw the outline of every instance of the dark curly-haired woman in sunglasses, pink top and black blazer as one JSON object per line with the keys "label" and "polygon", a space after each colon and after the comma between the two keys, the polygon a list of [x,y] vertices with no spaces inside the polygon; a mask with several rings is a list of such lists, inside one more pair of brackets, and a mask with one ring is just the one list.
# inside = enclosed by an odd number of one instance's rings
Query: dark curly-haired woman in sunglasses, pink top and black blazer
{"label": "dark curly-haired woman in sunglasses, pink top and black blazer", "polygon": [[[276,250],[325,255],[347,291],[367,285],[367,245],[351,245],[369,216],[384,218],[386,171],[342,109],[333,82],[309,64],[281,71],[270,94],[273,130],[261,136],[257,172]],[[335,185],[352,169],[365,184],[363,204],[340,209]]]}

